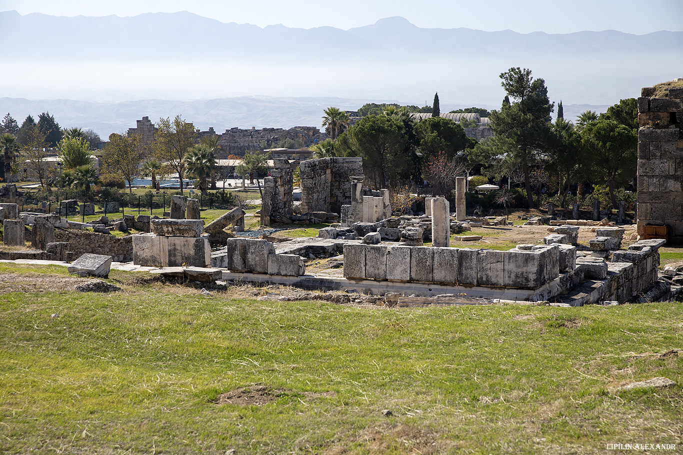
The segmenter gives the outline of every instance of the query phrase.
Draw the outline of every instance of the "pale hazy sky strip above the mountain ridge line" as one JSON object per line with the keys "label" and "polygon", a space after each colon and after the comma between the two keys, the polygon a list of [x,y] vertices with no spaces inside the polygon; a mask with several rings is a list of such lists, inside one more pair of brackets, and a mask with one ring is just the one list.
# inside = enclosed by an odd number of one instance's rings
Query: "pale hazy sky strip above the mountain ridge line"
{"label": "pale hazy sky strip above the mountain ridge line", "polygon": [[607,29],[641,35],[683,31],[683,0],[0,0],[0,11],[57,16],[135,16],[189,11],[224,23],[350,29],[403,16],[422,28],[519,33]]}

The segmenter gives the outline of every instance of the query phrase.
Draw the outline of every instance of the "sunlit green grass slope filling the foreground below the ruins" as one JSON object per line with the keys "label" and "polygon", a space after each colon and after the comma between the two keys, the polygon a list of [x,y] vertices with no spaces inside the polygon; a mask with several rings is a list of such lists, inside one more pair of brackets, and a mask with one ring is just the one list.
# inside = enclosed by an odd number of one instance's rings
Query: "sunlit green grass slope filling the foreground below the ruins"
{"label": "sunlit green grass slope filling the foreground below the ruins", "polygon": [[[358,307],[232,299],[229,288],[207,297],[139,277],[112,271],[122,291],[110,294],[0,294],[0,452],[600,454],[614,443],[683,444],[680,303]],[[679,385],[617,390],[652,377]]]}

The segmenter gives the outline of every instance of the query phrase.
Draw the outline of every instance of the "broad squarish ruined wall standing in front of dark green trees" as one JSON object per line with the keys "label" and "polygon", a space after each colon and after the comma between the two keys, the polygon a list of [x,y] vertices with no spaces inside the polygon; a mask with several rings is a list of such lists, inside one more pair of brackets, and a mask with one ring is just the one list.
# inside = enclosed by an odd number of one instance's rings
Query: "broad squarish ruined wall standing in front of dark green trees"
{"label": "broad squarish ruined wall standing in front of dark green trees", "polygon": [[363,158],[319,158],[301,162],[301,213],[333,211],[351,203],[351,177],[363,175]]}

